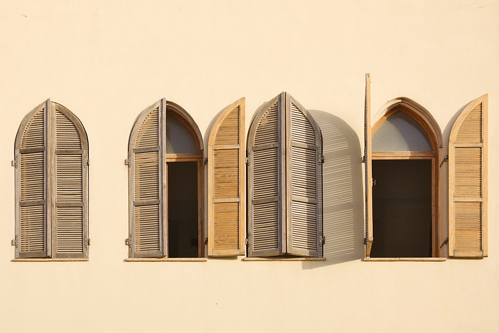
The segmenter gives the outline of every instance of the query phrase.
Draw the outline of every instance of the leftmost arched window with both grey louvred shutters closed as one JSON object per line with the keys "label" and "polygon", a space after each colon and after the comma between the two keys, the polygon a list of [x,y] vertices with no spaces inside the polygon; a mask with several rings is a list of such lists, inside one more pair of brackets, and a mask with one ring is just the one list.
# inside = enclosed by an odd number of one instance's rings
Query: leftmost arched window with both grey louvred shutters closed
{"label": "leftmost arched window with both grey louvred shutters closed", "polygon": [[88,258],[88,139],[79,119],[45,102],[14,144],[15,258]]}

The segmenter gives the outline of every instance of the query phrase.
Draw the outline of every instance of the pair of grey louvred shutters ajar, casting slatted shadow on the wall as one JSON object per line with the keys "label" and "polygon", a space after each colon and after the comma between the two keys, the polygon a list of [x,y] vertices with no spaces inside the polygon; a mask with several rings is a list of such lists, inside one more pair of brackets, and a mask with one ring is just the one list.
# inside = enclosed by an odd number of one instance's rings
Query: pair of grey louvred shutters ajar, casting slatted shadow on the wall
{"label": "pair of grey louvred shutters ajar, casting slatted shadow on the wall", "polygon": [[248,255],[322,256],[322,135],[283,92],[248,134]]}

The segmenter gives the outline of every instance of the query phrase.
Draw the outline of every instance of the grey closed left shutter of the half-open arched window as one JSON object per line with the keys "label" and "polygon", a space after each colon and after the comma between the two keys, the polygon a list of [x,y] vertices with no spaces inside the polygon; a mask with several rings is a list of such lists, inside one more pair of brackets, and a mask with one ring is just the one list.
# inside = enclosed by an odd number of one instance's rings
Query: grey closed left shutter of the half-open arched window
{"label": "grey closed left shutter of the half-open arched window", "polygon": [[137,117],[128,146],[129,256],[167,255],[164,99]]}

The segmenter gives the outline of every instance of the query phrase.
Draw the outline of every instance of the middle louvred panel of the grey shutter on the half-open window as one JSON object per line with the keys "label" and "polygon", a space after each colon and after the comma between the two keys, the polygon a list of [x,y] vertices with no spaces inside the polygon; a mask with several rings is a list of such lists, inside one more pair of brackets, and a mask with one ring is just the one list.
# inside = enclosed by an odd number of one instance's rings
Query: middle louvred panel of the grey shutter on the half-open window
{"label": "middle louvred panel of the grey shutter on the half-open window", "polygon": [[159,152],[136,153],[134,200],[159,199]]}

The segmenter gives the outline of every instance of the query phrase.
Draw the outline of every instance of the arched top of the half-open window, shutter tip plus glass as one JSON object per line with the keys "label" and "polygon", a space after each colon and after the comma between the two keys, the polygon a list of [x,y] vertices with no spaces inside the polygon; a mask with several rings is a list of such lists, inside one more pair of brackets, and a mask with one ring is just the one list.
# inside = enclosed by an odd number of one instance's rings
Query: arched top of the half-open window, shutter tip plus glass
{"label": "arched top of the half-open window, shutter tip plus glass", "polygon": [[[160,112],[160,110],[165,112]],[[162,128],[165,128],[164,142]],[[142,111],[130,132],[129,148],[164,144],[165,154],[203,155],[201,131],[194,119],[179,105],[164,98]]]}

